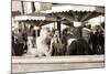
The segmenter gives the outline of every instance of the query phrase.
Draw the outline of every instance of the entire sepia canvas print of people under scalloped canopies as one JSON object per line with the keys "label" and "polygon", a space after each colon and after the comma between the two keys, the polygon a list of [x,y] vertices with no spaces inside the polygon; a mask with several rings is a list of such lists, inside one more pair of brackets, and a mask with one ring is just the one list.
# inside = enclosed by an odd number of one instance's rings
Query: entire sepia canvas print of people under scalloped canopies
{"label": "entire sepia canvas print of people under scalloped canopies", "polygon": [[12,73],[103,68],[105,8],[12,0]]}

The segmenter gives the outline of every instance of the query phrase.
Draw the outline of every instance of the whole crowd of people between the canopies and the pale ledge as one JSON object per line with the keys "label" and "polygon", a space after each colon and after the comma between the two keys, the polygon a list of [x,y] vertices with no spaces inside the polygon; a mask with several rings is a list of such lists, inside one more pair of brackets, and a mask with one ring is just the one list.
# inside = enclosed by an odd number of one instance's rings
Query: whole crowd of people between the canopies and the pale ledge
{"label": "whole crowd of people between the canopies and the pale ledge", "polygon": [[61,32],[48,28],[34,29],[34,25],[12,30],[12,55],[34,54],[92,55],[105,54],[105,24],[70,27]]}

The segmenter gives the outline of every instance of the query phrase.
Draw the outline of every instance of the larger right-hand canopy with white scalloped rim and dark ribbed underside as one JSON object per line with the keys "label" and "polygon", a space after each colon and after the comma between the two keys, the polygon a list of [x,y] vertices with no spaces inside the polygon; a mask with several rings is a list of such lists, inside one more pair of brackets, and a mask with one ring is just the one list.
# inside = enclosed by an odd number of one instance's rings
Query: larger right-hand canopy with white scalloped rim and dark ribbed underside
{"label": "larger right-hand canopy with white scalloped rim and dark ribbed underside", "polygon": [[52,14],[54,17],[59,17],[62,19],[66,19],[69,22],[84,22],[100,14],[103,15],[105,7],[56,4],[53,6],[52,10],[47,10],[46,13]]}

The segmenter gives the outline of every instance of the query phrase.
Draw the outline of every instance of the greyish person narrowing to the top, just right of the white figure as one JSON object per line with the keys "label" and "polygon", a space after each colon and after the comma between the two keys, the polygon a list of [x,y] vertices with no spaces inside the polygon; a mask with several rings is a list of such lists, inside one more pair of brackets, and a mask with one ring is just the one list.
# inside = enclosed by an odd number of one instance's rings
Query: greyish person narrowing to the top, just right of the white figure
{"label": "greyish person narrowing to the top, just right of the white figure", "polygon": [[62,40],[59,38],[59,32],[57,30],[55,30],[55,34],[52,38],[51,50],[52,50],[52,55],[64,55],[65,54],[64,44],[62,43]]}

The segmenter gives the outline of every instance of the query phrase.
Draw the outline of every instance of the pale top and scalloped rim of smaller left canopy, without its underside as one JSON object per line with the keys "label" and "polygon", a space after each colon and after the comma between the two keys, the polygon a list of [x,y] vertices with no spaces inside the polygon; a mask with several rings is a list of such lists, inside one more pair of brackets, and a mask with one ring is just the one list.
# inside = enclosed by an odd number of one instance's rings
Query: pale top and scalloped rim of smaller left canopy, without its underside
{"label": "pale top and scalloped rim of smaller left canopy, without its underside", "polygon": [[46,13],[34,12],[24,15],[14,17],[15,21],[56,21],[54,17],[47,15]]}

